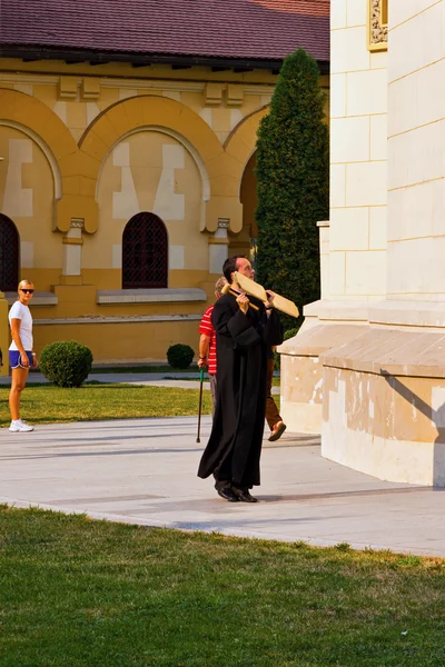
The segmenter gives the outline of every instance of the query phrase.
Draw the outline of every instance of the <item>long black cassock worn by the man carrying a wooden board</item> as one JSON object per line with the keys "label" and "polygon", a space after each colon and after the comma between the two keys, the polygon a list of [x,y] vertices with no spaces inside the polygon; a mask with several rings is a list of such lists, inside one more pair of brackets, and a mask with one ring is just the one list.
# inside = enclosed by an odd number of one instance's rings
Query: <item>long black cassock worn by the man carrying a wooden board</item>
{"label": "long black cassock worn by the man carrying a wooden board", "polygon": [[283,342],[276,310],[266,315],[261,301],[249,297],[258,310],[245,315],[236,297],[227,293],[216,303],[217,405],[209,441],[198,477],[214,474],[240,488],[259,485],[259,457],[267,395],[267,352]]}

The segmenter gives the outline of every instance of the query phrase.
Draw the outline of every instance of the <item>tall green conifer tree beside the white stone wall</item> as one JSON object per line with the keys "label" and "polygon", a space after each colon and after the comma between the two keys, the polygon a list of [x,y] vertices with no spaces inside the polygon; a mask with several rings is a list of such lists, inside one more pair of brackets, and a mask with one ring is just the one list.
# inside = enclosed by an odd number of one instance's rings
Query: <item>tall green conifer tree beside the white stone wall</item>
{"label": "tall green conifer tree beside the white stone wall", "polygon": [[[319,299],[317,221],[329,212],[324,103],[318,66],[298,49],[285,59],[258,129],[256,279],[295,301],[300,312]],[[295,319],[284,320],[295,327]]]}

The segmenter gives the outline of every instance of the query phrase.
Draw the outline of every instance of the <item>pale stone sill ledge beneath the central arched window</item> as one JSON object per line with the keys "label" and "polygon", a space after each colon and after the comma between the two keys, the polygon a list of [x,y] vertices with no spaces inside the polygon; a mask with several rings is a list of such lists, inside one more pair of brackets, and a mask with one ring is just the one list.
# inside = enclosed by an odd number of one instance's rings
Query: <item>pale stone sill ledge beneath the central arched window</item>
{"label": "pale stone sill ledge beneath the central arched window", "polygon": [[97,291],[97,303],[186,303],[207,301],[204,289],[109,289]]}

